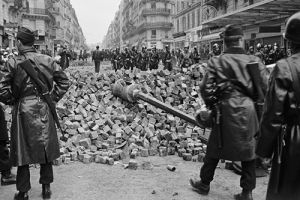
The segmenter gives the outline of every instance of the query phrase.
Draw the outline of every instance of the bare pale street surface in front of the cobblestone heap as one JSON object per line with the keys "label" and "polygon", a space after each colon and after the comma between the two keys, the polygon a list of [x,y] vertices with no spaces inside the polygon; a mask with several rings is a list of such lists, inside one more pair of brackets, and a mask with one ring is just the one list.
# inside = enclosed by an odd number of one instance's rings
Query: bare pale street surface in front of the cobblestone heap
{"label": "bare pale street surface in front of the cobblestone heap", "polygon": [[[240,192],[239,176],[225,170],[223,164],[216,170],[215,181],[208,196],[192,190],[189,178],[198,178],[201,163],[186,162],[177,156],[138,158],[139,163],[151,162],[152,170],[124,169],[123,165],[82,164],[79,162],[54,167],[52,199],[55,200],[232,200]],[[176,171],[167,170],[176,166]],[[30,199],[41,199],[38,184],[39,169],[31,168]],[[258,178],[253,191],[255,200],[263,200],[268,178]],[[15,185],[0,186],[1,200],[10,200]]]}

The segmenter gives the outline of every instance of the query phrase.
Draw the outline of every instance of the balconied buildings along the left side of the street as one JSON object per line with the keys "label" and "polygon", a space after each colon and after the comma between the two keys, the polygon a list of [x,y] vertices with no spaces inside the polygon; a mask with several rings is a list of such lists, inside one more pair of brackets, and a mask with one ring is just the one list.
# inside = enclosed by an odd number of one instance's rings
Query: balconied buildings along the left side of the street
{"label": "balconied buildings along the left side of the street", "polygon": [[24,26],[36,31],[37,50],[55,54],[62,45],[75,51],[87,48],[70,0],[0,0],[0,8],[2,47],[15,47],[14,36]]}

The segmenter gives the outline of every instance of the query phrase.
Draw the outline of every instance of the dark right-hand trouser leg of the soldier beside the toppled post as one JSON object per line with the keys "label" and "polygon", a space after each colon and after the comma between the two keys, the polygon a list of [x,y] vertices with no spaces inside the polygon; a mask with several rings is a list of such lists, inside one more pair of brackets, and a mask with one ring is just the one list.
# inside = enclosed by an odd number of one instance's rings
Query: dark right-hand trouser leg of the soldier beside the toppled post
{"label": "dark right-hand trouser leg of the soldier beside the toppled post", "polygon": [[256,186],[255,160],[242,161],[240,186],[243,190],[252,191]]}

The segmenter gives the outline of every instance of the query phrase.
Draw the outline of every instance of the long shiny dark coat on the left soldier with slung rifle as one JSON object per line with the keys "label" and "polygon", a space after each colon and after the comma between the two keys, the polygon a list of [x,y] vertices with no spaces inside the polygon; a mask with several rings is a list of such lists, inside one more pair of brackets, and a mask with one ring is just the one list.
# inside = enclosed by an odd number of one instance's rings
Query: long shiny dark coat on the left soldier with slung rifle
{"label": "long shiny dark coat on the left soldier with slung rifle", "polygon": [[20,52],[20,56],[10,59],[0,72],[0,101],[13,105],[11,160],[14,166],[46,163],[59,157],[51,111],[40,98],[31,78],[17,63],[29,59],[37,64],[55,102],[69,88],[68,77],[51,57],[38,54],[31,47],[24,47]]}

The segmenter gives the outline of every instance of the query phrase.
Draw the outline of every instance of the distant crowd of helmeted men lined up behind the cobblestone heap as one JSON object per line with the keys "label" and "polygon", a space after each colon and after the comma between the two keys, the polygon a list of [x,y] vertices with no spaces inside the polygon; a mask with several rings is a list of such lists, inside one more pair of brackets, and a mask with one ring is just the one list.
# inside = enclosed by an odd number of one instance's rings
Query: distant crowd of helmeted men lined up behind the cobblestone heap
{"label": "distant crowd of helmeted men lined up behind the cobblestone heap", "polygon": [[[220,45],[214,43],[208,58],[219,56],[221,53]],[[274,64],[288,55],[285,53],[284,48],[279,48],[276,43],[274,45],[258,43],[256,49],[250,46],[247,54],[259,57],[265,65]],[[141,50],[137,50],[135,46],[132,48],[125,47],[123,50],[120,50],[120,48],[100,50],[97,46],[92,53],[92,60],[97,63],[96,72],[99,72],[102,61],[111,61],[115,71],[120,69],[133,70],[134,68],[142,71],[153,70],[158,69],[160,62],[162,62],[164,69],[172,70],[174,67],[179,67],[184,70],[184,68],[188,68],[193,64],[207,61],[206,58],[201,57],[196,46],[192,49],[185,46],[183,49],[170,50],[168,45],[165,46],[164,50],[157,49],[156,46],[148,49],[142,47]]]}

